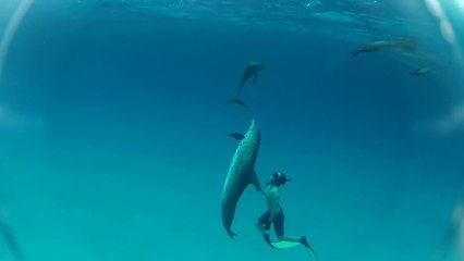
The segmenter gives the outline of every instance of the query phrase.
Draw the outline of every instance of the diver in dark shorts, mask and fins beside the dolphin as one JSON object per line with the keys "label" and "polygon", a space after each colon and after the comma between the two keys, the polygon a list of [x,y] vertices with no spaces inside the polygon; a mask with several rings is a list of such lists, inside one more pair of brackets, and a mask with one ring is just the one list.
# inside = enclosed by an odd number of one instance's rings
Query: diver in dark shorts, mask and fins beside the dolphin
{"label": "diver in dark shorts, mask and fins beside the dolphin", "polygon": [[[286,178],[285,174],[282,172],[274,172],[270,181],[267,184],[267,188],[265,191],[261,190],[262,195],[266,198],[266,203],[268,210],[258,219],[256,223],[256,227],[261,233],[266,243],[269,244],[273,248],[290,248],[293,246],[297,246],[302,244],[308,250],[313,252],[313,254],[317,258],[313,248],[309,246],[305,236],[302,237],[293,237],[288,236],[284,233],[284,219],[282,207],[280,207],[280,188],[285,185],[286,182],[291,182],[291,179]],[[273,224],[273,229],[279,241],[271,241],[269,236],[269,229]],[[279,245],[278,243],[288,243],[284,245]]]}

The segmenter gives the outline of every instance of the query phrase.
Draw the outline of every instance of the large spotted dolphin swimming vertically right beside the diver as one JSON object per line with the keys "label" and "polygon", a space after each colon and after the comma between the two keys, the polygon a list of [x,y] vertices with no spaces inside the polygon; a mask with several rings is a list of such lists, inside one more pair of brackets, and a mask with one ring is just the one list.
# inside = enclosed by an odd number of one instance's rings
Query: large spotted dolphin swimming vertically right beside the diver
{"label": "large spotted dolphin swimming vertically right beside the diver", "polygon": [[239,142],[222,188],[222,225],[231,238],[236,236],[231,231],[231,226],[236,204],[243,191],[249,184],[254,185],[256,190],[261,191],[261,185],[255,172],[260,136],[259,127],[256,125],[255,120],[253,120],[248,130],[246,130]]}

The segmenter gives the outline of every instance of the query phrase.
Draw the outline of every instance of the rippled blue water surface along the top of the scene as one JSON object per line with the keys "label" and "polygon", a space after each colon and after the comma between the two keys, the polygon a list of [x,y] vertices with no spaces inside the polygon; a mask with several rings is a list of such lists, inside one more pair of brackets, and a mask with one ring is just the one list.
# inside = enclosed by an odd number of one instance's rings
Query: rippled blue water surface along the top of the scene
{"label": "rippled blue water surface along the top of the scene", "polygon": [[[371,40],[422,34],[427,23],[424,4],[418,1],[199,1],[199,0],[120,0],[120,1],[63,1],[69,9],[99,10],[99,18],[115,18],[119,14],[137,14],[138,18],[156,15],[178,18],[228,22],[247,26],[268,26],[301,33],[321,32],[347,40]],[[52,10],[56,2],[37,2]],[[411,12],[415,9],[415,12]],[[419,10],[419,11],[417,11]],[[112,14],[112,15],[110,15]],[[412,15],[413,14],[413,15]],[[401,26],[400,26],[401,25]],[[400,30],[401,29],[401,30]],[[392,35],[392,32],[395,32]],[[375,37],[373,37],[373,34]]]}

